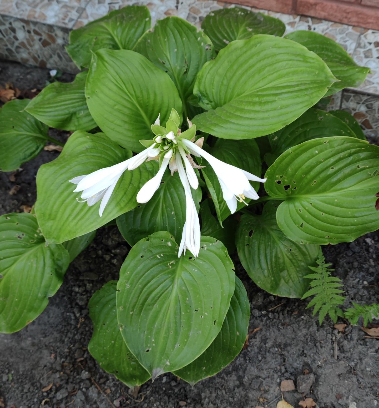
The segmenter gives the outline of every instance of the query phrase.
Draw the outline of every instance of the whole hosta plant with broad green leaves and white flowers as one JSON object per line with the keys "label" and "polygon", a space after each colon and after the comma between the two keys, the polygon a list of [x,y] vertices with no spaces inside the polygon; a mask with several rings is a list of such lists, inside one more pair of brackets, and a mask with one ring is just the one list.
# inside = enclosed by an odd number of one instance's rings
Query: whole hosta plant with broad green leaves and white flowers
{"label": "whole hosta plant with broad green leaves and white flowers", "polygon": [[318,108],[368,69],[322,35],[284,31],[238,7],[203,31],[177,17],[151,29],[129,6],[71,32],[75,80],[0,111],[2,171],[37,155],[49,126],[73,131],[39,169],[32,213],[0,217],[1,332],[42,313],[116,222],[131,249],[89,302],[89,350],[129,386],[168,371],[195,384],[246,339],[232,255],[264,290],[301,298],[320,245],[379,227],[379,148],[348,113]]}

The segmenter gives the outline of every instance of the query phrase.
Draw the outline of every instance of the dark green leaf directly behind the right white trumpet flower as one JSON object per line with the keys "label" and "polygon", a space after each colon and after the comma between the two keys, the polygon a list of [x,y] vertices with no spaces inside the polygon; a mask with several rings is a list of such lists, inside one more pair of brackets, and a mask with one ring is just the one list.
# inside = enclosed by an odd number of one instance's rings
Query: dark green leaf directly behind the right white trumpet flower
{"label": "dark green leaf directly behind the right white trumpet flower", "polygon": [[[262,173],[261,158],[255,140],[217,140],[215,145],[208,149],[208,151],[211,155],[217,157],[217,159],[244,169],[258,177]],[[231,212],[222,197],[221,186],[212,167],[205,160],[201,164],[205,166],[202,169],[204,179],[215,204],[217,218],[220,224],[222,224],[222,221],[231,215]],[[259,183],[253,182],[252,186],[257,190]],[[248,202],[249,200],[245,201]],[[243,202],[238,203],[237,211],[243,207],[245,207]]]}

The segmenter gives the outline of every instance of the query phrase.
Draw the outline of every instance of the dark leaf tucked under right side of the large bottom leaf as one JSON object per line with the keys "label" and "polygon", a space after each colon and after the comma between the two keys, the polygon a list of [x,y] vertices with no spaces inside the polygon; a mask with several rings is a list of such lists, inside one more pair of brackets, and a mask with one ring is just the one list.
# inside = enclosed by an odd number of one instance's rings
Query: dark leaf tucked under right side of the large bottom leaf
{"label": "dark leaf tucked under right side of the large bottom leaf", "polygon": [[235,277],[235,290],[221,331],[195,361],[173,374],[195,385],[217,374],[237,357],[246,341],[250,303],[242,282]]}

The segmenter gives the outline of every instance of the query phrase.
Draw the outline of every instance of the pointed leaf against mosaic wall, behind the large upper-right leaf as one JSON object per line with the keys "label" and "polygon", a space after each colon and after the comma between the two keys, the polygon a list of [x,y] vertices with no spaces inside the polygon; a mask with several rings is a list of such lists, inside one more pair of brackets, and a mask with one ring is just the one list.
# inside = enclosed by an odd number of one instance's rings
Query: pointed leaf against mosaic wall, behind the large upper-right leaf
{"label": "pointed leaf against mosaic wall, behind the large upper-right leaf", "polygon": [[359,67],[350,55],[332,39],[314,31],[294,31],[286,35],[288,40],[303,44],[319,55],[328,64],[333,75],[340,80],[335,82],[325,96],[332,95],[346,86],[359,86],[366,78],[369,68]]}

